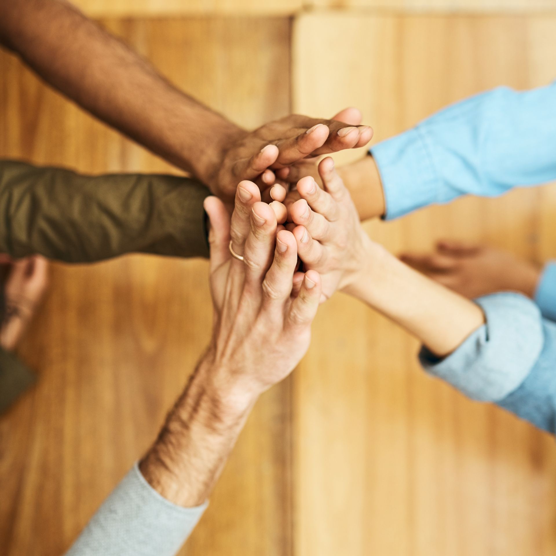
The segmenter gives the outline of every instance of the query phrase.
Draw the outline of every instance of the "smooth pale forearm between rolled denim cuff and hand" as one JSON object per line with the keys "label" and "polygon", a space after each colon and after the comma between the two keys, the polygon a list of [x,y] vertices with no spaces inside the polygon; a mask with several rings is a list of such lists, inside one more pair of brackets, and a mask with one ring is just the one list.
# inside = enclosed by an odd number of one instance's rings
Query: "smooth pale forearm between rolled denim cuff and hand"
{"label": "smooth pale forearm between rolled denim cuff and hand", "polygon": [[403,326],[439,357],[484,324],[481,309],[369,243],[365,266],[345,291]]}

